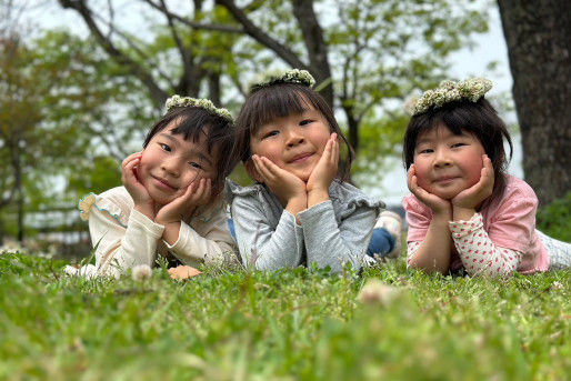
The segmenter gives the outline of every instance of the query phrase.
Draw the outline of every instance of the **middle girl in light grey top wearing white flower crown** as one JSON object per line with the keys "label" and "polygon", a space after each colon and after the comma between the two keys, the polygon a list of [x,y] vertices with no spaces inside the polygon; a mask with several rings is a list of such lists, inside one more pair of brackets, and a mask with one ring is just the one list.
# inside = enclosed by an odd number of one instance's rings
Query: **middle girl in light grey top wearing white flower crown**
{"label": "middle girl in light grey top wearing white flower crown", "polygon": [[[246,188],[228,181],[246,265],[315,263],[337,272],[344,263],[359,269],[373,261],[367,249],[383,203],[343,181],[353,153],[313,83],[304,70],[267,74],[237,119],[238,154],[257,181]],[[340,143],[347,158],[338,170]]]}

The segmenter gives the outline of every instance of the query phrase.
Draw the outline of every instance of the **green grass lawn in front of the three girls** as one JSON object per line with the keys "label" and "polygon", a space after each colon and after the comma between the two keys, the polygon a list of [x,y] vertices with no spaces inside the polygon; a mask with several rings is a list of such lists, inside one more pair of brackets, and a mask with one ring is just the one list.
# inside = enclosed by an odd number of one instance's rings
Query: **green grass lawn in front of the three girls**
{"label": "green grass lawn in front of the three girls", "polygon": [[[0,379],[564,380],[569,271],[425,275],[403,261],[325,275],[206,269],[172,281],[62,275],[0,255]],[[361,303],[371,278],[399,289]],[[568,374],[568,375],[565,375]]]}

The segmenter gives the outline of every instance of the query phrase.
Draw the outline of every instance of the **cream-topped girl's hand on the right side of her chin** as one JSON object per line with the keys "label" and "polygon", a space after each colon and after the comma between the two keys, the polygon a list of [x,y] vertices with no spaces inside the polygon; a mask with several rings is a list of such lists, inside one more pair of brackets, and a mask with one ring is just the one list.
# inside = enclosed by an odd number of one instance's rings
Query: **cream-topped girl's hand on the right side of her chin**
{"label": "cream-topped girl's hand on the right side of her chin", "polygon": [[157,213],[156,222],[160,224],[178,223],[192,217],[198,207],[210,201],[212,186],[210,179],[193,181],[182,195],[163,205]]}

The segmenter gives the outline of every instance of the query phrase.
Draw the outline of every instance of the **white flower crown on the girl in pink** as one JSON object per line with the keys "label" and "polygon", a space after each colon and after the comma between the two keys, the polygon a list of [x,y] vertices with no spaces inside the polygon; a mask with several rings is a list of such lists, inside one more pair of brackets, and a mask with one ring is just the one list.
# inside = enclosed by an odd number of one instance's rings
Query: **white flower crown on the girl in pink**
{"label": "white flower crown on the girl in pink", "polygon": [[434,90],[427,90],[412,104],[411,114],[418,116],[430,108],[438,109],[445,103],[460,100],[478,102],[490,89],[492,81],[485,78],[471,78],[465,81],[443,81]]}

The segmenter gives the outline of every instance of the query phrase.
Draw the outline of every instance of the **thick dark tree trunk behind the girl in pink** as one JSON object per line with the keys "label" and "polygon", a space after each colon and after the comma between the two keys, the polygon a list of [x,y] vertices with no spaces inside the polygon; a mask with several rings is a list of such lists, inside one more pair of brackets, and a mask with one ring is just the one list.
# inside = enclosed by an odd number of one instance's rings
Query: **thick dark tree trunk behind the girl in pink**
{"label": "thick dark tree trunk behind the girl in pink", "polygon": [[571,190],[571,1],[498,0],[522,136],[541,204]]}

